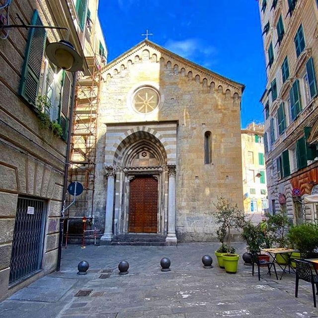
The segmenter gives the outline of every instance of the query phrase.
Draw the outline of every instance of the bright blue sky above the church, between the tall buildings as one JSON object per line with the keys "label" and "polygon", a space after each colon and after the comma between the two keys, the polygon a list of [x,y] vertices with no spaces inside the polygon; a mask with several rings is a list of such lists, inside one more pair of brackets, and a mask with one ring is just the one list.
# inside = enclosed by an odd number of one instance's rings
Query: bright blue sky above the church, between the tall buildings
{"label": "bright blue sky above the church, between the tall buildings", "polygon": [[211,71],[245,84],[241,125],[263,122],[266,84],[255,0],[99,0],[99,18],[112,61],[145,37]]}

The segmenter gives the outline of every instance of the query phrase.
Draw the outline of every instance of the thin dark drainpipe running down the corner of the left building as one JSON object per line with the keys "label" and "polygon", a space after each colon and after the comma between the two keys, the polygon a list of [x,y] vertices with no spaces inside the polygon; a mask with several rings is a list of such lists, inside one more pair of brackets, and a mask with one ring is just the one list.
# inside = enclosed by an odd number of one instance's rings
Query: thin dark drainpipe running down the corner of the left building
{"label": "thin dark drainpipe running down the corner of the left building", "polygon": [[[68,174],[69,174],[69,166],[70,166],[70,155],[71,155],[71,140],[72,140],[72,128],[73,128],[73,110],[74,110],[74,103],[75,103],[75,92],[76,92],[76,80],[78,74],[74,74],[73,78],[73,89],[72,89],[72,99],[71,99],[71,108],[70,108],[70,122],[69,122],[69,131],[68,131],[68,141],[66,147],[66,161],[65,161],[65,171],[64,171],[64,184],[63,184],[63,209],[65,207],[65,200],[66,200],[66,191],[68,188]],[[56,271],[60,271],[61,269],[61,257],[62,257],[62,244],[63,244],[63,226],[64,226],[64,215],[61,213],[60,219],[60,235],[59,235],[59,246],[58,246],[58,260],[56,264]]]}

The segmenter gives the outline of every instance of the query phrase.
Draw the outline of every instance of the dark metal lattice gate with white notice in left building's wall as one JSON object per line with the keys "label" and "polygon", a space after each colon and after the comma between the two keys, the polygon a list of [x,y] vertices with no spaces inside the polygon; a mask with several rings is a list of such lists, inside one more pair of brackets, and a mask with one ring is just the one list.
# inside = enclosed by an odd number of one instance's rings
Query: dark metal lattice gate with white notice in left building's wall
{"label": "dark metal lattice gate with white notice in left building's wall", "polygon": [[44,200],[18,198],[9,284],[41,269],[45,216]]}

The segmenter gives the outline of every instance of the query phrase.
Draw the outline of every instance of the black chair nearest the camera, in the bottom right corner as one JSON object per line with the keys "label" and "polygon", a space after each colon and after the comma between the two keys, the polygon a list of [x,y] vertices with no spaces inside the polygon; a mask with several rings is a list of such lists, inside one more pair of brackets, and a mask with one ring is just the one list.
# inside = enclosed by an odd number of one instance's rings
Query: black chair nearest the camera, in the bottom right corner
{"label": "black chair nearest the camera, in the bottom right corner", "polygon": [[312,266],[307,261],[295,259],[294,262],[296,263],[295,297],[298,297],[298,285],[300,279],[312,283],[314,307],[316,307],[315,284],[318,290],[317,272],[315,274],[313,273]]}

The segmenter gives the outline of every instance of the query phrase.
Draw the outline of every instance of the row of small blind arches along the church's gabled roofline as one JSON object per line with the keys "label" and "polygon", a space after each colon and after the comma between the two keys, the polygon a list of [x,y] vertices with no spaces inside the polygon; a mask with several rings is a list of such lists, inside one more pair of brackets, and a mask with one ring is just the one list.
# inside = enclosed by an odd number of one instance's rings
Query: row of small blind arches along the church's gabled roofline
{"label": "row of small blind arches along the church's gabled roofline", "polygon": [[186,77],[188,80],[194,80],[201,85],[202,90],[206,93],[219,93],[223,94],[224,97],[230,96],[233,99],[234,94],[236,94],[236,99],[238,96],[239,98],[241,97],[242,85],[236,85],[230,79],[210,72],[149,41],[142,42],[121,58],[106,65],[102,73],[106,73],[106,81],[110,81],[113,77],[118,76],[122,70],[131,68],[133,64],[146,61],[160,63],[160,67],[164,67],[171,72],[171,76]]}

